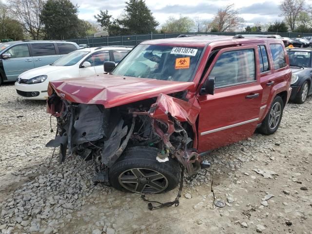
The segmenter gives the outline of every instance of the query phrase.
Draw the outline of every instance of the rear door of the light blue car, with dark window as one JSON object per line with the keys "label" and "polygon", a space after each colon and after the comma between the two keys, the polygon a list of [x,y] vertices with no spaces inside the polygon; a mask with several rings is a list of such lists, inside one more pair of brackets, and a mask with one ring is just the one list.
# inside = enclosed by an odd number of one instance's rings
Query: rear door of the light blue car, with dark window
{"label": "rear door of the light blue car, with dark window", "polygon": [[35,67],[42,67],[55,62],[60,58],[54,43],[30,43]]}

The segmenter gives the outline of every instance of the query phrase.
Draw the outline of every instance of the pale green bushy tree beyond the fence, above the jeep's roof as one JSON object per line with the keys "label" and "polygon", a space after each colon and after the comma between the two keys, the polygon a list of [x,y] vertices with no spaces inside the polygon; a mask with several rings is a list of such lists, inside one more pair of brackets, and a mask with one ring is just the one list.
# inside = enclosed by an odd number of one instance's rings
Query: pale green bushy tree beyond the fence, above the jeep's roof
{"label": "pale green bushy tree beyond the fence, above the jeep's roof", "polygon": [[164,33],[187,33],[195,28],[194,21],[189,17],[182,17],[179,19],[169,17],[162,25],[161,31]]}

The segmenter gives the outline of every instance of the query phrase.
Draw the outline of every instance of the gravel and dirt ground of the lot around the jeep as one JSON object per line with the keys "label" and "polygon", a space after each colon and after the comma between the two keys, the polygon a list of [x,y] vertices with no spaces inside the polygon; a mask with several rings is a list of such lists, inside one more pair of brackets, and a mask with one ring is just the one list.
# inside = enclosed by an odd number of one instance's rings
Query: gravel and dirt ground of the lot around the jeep
{"label": "gravel and dirt ground of the lot around the jeep", "polygon": [[[44,145],[54,133],[45,103],[17,97],[12,84],[0,87],[0,136],[2,233],[312,234],[311,97],[286,106],[274,135],[254,134],[207,156],[224,208],[212,208],[209,174],[184,181],[178,207],[149,211],[140,195],[95,186],[90,161],[59,166],[54,158],[48,167],[53,150]],[[165,202],[176,193],[148,198]]]}

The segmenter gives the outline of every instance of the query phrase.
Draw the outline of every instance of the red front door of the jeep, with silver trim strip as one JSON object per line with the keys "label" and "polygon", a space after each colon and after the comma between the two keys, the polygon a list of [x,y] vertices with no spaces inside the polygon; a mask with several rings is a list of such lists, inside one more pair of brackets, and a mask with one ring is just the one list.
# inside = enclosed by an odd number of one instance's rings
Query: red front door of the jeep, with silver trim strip
{"label": "red front door of the jeep, with silver trim strip", "polygon": [[[205,152],[253,135],[262,98],[257,46],[240,46],[211,53],[204,79],[215,78],[214,95],[197,94],[200,104],[198,152]],[[209,64],[211,63],[211,64]]]}

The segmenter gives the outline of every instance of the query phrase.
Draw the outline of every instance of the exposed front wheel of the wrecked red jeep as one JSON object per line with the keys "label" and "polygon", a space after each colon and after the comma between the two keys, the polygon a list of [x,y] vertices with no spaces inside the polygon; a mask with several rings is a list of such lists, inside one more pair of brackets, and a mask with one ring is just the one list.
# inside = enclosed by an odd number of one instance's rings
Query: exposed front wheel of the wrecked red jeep
{"label": "exposed front wheel of the wrecked red jeep", "polygon": [[171,157],[169,161],[158,162],[158,151],[142,146],[127,149],[109,169],[111,185],[120,191],[139,194],[159,194],[176,188],[180,181],[179,164]]}

